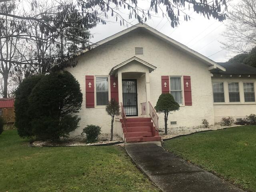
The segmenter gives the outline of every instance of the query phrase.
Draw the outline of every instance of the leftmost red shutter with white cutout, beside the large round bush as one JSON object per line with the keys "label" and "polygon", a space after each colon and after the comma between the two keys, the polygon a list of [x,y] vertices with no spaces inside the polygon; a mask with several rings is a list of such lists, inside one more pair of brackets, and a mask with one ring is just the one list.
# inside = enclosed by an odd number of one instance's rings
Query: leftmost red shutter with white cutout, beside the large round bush
{"label": "leftmost red shutter with white cutout, beside the large round bush", "polygon": [[85,76],[86,108],[94,108],[94,76]]}

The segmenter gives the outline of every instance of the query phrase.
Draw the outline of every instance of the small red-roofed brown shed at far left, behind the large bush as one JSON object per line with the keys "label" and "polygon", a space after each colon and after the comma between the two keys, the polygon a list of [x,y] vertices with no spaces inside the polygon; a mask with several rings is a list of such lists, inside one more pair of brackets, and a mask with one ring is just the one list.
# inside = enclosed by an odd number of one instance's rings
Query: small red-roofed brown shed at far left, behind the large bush
{"label": "small red-roofed brown shed at far left, behind the large bush", "polygon": [[7,124],[14,123],[14,98],[0,98],[0,116]]}

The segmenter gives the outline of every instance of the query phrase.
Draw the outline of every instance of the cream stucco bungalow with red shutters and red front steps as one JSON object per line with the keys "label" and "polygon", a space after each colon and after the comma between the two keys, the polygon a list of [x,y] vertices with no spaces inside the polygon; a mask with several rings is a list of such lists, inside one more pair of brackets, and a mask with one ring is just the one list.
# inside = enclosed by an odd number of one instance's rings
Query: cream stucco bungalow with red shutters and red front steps
{"label": "cream stucco bungalow with red shutters and red front steps", "polygon": [[171,93],[180,110],[168,127],[210,124],[224,116],[235,119],[255,113],[256,68],[216,63],[146,24],[137,24],[78,53],[77,66],[67,68],[80,83],[83,104],[81,134],[88,124],[110,132],[106,113],[110,98],[120,104],[114,132],[126,142],[160,140],[163,114],[154,106],[162,93]]}

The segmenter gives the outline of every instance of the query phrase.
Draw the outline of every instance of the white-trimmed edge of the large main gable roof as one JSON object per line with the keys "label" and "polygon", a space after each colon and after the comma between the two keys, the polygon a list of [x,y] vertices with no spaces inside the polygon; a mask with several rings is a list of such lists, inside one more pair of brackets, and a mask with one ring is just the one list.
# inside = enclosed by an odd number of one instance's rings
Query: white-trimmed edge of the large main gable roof
{"label": "white-trimmed edge of the large main gable roof", "polygon": [[204,62],[204,64],[207,64],[210,67],[209,70],[216,69],[216,68],[218,68],[219,70],[222,70],[222,71],[226,70],[223,66],[220,66],[219,64],[217,64],[213,60],[207,58],[206,56],[203,56],[202,54],[200,54],[200,53],[198,53],[198,52],[188,48],[187,46],[179,43],[178,41],[176,41],[176,40],[174,40],[174,39],[172,39],[172,38],[162,34],[161,32],[159,32],[157,30],[155,30],[154,28],[152,28],[152,27],[150,27],[150,26],[148,26],[146,24],[141,24],[141,23],[138,23],[138,24],[136,24],[134,26],[131,26],[130,28],[127,28],[125,30],[122,30],[121,32],[118,32],[118,33],[116,33],[116,34],[114,34],[114,35],[112,35],[112,36],[110,36],[108,38],[105,38],[105,39],[99,41],[99,42],[96,42],[95,44],[92,44],[90,46],[90,48],[86,48],[85,50],[78,51],[75,54],[77,56],[80,55],[80,54],[83,54],[83,53],[87,52],[88,50],[91,50],[91,49],[96,48],[96,47],[98,47],[98,46],[100,46],[102,44],[105,44],[106,42],[109,42],[110,40],[118,38],[118,37],[120,37],[120,36],[122,36],[122,35],[124,35],[124,34],[126,34],[128,32],[131,32],[131,31],[133,31],[133,30],[135,30],[137,28],[143,28],[147,32],[149,32],[150,34],[152,34],[152,35],[154,35],[154,36],[156,36],[156,37],[158,37],[158,38],[160,38],[160,39],[162,39],[162,40],[172,44],[172,46],[174,46],[174,47],[176,47],[176,48],[178,48],[178,49],[180,49],[180,50],[182,50],[184,52],[187,52],[188,54],[194,56],[198,60],[201,60],[202,62]]}

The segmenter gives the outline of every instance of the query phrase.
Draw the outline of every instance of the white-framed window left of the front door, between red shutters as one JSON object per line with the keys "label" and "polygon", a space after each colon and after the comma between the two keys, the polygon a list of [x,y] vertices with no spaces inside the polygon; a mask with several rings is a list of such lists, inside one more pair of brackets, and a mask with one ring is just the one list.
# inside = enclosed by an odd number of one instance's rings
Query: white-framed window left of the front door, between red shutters
{"label": "white-framed window left of the front door, between red shutters", "polygon": [[96,105],[108,104],[108,77],[96,77]]}

